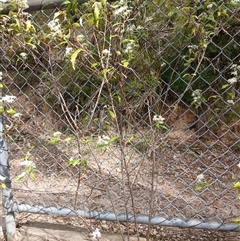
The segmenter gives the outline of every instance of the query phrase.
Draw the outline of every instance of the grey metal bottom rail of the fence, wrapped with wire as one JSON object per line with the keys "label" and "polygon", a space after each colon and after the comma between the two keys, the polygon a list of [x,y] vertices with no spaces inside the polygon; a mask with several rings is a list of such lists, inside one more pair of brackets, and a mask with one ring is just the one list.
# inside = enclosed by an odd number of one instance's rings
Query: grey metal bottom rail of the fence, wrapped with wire
{"label": "grey metal bottom rail of the fence, wrapped with wire", "polygon": [[[40,213],[40,214],[53,214],[59,216],[81,216],[82,218],[106,220],[106,221],[119,221],[119,222],[130,222],[148,224],[149,217],[147,215],[136,215],[136,220],[133,215],[117,214],[110,212],[99,212],[99,211],[86,211],[76,210],[73,211],[68,208],[57,208],[57,207],[43,207],[43,206],[32,206],[28,204],[13,203],[9,208],[11,212],[28,212],[28,213]],[[201,221],[197,219],[180,219],[180,218],[165,218],[155,216],[150,220],[151,225],[160,226],[171,226],[179,228],[196,228],[196,229],[208,229],[208,230],[220,230],[220,231],[233,231],[240,232],[240,226],[234,223],[220,223],[215,221]]]}

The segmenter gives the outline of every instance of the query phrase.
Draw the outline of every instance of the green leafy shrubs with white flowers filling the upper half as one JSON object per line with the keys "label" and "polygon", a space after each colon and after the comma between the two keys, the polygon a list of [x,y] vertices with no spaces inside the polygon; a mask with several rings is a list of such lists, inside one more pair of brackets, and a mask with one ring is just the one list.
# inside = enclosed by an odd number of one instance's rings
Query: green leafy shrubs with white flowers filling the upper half
{"label": "green leafy shrubs with white flowers filling the upper half", "polygon": [[66,0],[58,12],[36,14],[13,1],[9,9],[0,20],[2,66],[60,115],[63,102],[83,125],[100,112],[123,126],[142,117],[142,125],[169,106],[192,108],[205,121],[239,115],[239,68],[236,76],[231,69],[239,65],[237,1]]}

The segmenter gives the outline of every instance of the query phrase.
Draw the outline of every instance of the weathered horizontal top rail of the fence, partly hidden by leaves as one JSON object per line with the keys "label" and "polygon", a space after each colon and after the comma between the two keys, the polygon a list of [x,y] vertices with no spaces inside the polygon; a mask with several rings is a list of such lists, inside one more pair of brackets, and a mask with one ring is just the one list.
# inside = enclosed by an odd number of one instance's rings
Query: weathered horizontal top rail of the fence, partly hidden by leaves
{"label": "weathered horizontal top rail of the fence, partly hidden by leaves", "polygon": [[[28,0],[28,8],[25,10],[26,12],[40,11],[46,9],[54,9],[60,7],[64,0]],[[86,0],[78,0],[79,4],[86,2]],[[0,13],[7,14],[9,9],[8,6],[10,4],[9,1],[0,1]]]}

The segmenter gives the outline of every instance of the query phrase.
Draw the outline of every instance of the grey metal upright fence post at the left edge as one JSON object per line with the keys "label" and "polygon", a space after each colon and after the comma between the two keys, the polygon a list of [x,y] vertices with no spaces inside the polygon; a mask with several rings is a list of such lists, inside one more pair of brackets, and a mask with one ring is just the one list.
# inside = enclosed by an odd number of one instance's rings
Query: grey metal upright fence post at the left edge
{"label": "grey metal upright fence post at the left edge", "polygon": [[10,180],[10,172],[9,172],[9,163],[8,163],[8,150],[7,143],[3,139],[3,115],[0,115],[0,175],[5,177],[3,181],[6,185],[5,188],[2,189],[2,202],[3,202],[3,213],[5,216],[6,223],[6,236],[7,240],[11,241],[14,239],[14,235],[16,233],[16,223],[14,218],[14,213],[12,211],[8,211],[8,208],[12,204],[12,193],[11,193],[11,180]]}

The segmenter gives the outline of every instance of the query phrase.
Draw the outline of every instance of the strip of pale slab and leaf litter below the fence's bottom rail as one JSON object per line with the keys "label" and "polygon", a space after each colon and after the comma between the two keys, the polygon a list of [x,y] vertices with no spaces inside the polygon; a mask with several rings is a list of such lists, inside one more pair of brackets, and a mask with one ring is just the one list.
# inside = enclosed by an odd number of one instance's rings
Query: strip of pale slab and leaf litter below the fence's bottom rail
{"label": "strip of pale slab and leaf litter below the fence's bottom rail", "polygon": [[[46,217],[43,215],[21,215],[18,217],[19,226],[17,232],[17,240],[21,241],[93,241],[92,232],[87,230],[85,224],[75,219],[64,217]],[[27,221],[26,221],[27,220]],[[37,220],[37,221],[36,221]],[[88,221],[92,228],[99,228],[102,237],[99,241],[121,241],[123,240],[120,230],[114,223],[106,221]],[[121,225],[124,240],[129,241],[146,241],[146,225],[138,225],[138,234],[133,225],[129,227],[129,235],[127,235],[126,225]],[[171,227],[152,227],[151,241],[238,241],[240,235],[234,232],[209,231],[198,229],[179,229]]]}

